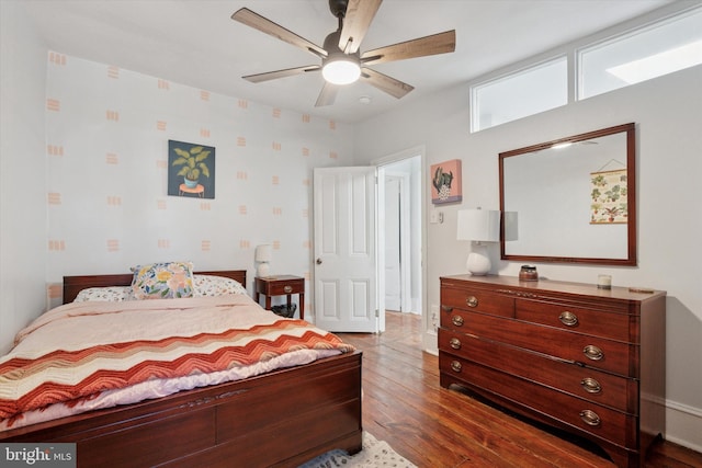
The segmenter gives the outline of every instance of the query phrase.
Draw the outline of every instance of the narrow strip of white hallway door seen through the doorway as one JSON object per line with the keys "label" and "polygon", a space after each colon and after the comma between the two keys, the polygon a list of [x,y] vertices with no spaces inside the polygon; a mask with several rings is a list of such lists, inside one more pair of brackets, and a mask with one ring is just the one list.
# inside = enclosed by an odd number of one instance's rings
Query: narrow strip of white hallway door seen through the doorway
{"label": "narrow strip of white hallway door seen through the doorway", "polygon": [[385,214],[381,222],[385,222],[385,308],[403,311],[400,282],[400,179],[385,176]]}

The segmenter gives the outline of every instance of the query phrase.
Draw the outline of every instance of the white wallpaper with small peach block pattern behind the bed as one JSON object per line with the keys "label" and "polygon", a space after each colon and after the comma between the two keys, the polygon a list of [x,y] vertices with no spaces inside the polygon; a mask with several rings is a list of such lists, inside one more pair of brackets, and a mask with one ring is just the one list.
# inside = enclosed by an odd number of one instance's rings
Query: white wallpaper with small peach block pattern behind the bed
{"label": "white wallpaper with small peach block pattern behind the bed", "polygon": [[[52,306],[63,275],[154,261],[248,269],[250,292],[260,243],[273,246],[271,273],[309,281],[313,168],[352,165],[351,126],[63,54],[48,62]],[[169,139],[215,148],[213,199],[168,195]]]}

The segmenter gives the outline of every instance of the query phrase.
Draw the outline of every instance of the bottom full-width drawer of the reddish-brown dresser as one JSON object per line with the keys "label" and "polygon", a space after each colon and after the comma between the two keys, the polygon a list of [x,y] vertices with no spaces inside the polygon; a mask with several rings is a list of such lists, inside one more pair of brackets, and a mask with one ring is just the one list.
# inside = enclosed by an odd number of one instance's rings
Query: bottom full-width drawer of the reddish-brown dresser
{"label": "bottom full-width drawer of the reddish-brown dresser", "polygon": [[637,418],[523,380],[450,354],[440,353],[440,370],[489,389],[531,411],[625,447],[636,447]]}

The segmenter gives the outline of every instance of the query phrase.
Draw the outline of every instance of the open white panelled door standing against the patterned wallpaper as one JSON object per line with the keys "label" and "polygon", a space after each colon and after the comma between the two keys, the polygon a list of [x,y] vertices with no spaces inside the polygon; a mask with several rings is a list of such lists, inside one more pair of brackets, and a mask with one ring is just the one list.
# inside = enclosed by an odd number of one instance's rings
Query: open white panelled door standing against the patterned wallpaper
{"label": "open white panelled door standing against the patterned wallpaper", "polygon": [[378,331],[375,168],[314,170],[315,324]]}

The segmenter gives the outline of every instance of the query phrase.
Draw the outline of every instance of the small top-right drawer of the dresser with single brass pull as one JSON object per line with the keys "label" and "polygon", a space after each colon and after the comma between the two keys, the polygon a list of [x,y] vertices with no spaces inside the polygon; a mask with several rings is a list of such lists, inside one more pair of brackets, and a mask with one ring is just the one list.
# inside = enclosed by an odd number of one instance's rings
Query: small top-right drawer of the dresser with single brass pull
{"label": "small top-right drawer of the dresser with single brass pull", "polygon": [[516,315],[519,320],[543,323],[564,330],[608,338],[611,340],[636,342],[638,317],[571,307],[563,304],[517,299]]}

